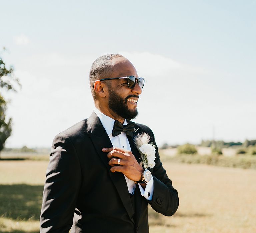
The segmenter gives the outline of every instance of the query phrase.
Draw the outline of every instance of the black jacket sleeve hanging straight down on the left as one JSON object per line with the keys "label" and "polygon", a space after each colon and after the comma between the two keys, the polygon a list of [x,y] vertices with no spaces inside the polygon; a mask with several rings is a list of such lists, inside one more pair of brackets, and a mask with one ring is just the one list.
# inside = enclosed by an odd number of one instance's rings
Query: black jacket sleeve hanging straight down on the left
{"label": "black jacket sleeve hanging straight down on the left", "polygon": [[81,168],[75,147],[65,135],[52,144],[46,171],[40,232],[69,232],[81,184]]}

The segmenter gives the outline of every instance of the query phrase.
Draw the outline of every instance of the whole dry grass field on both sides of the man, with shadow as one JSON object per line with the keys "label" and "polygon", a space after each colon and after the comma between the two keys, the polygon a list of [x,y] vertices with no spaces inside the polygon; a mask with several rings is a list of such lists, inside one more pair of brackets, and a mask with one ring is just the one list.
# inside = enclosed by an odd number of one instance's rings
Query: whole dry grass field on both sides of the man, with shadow
{"label": "whole dry grass field on both sides of the man, with shadow", "polygon": [[[0,160],[0,232],[39,232],[47,161]],[[164,162],[180,206],[172,217],[149,207],[151,233],[256,232],[256,170]]]}

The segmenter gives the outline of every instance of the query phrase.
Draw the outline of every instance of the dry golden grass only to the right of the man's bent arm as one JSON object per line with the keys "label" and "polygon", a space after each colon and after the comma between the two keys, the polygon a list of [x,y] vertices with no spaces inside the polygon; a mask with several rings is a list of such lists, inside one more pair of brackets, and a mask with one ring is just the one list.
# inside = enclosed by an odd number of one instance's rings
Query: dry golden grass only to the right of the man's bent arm
{"label": "dry golden grass only to the right of the man's bent arm", "polygon": [[255,170],[177,163],[164,167],[179,192],[180,206],[173,217],[150,210],[150,232],[256,232]]}

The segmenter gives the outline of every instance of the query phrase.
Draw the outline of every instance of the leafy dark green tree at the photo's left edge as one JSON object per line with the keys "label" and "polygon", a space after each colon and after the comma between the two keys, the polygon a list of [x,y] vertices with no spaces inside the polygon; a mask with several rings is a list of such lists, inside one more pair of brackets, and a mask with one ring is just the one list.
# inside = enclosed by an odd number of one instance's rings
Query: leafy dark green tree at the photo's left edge
{"label": "leafy dark green tree at the photo's left edge", "polygon": [[[16,83],[20,86],[18,78],[13,75],[13,68],[6,68],[4,61],[0,58],[0,88],[15,91],[13,84]],[[4,148],[6,139],[11,135],[12,128],[10,118],[5,118],[6,101],[0,94],[0,151]]]}

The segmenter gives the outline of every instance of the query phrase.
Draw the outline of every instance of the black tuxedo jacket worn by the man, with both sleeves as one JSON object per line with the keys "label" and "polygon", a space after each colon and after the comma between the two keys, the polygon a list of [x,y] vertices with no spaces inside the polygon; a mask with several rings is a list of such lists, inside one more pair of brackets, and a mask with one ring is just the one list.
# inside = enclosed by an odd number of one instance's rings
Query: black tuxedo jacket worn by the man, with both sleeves
{"label": "black tuxedo jacket worn by the man, with both sleeves", "polygon": [[[134,135],[152,131],[135,124]],[[131,137],[131,151],[139,152]],[[149,231],[147,205],[164,215],[173,215],[179,205],[177,191],[166,175],[156,147],[156,166],[149,169],[154,179],[151,201],[135,189],[135,210],[124,175],[112,173],[107,153],[113,147],[100,119],[92,115],[58,134],[53,141],[46,171],[40,232],[133,233]]]}

